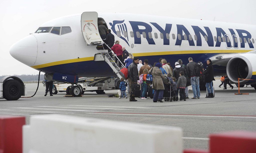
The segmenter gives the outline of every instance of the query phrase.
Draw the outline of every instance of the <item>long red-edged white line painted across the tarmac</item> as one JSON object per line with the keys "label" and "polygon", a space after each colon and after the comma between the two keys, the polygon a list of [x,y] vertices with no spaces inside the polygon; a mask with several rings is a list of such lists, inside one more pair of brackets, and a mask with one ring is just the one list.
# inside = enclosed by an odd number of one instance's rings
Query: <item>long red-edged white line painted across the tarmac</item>
{"label": "long red-edged white line painted across the tarmac", "polygon": [[256,118],[250,115],[206,115],[206,114],[156,114],[156,113],[112,113],[97,112],[88,114],[104,114],[104,115],[137,115],[137,116],[186,116],[186,117],[224,117],[224,118]]}

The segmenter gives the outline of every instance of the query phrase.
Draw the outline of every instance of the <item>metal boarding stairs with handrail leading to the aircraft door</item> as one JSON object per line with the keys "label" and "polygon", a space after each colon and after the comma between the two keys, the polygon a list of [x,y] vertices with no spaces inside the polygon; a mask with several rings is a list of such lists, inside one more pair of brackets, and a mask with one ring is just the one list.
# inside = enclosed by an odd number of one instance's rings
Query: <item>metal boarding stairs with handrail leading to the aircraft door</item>
{"label": "metal boarding stairs with handrail leading to the aircraft door", "polygon": [[[107,44],[106,46],[111,49]],[[106,50],[107,51],[107,50]],[[113,72],[118,76],[119,79],[122,78],[122,76],[119,74],[119,71],[124,68],[125,66],[123,65],[122,61],[120,61],[118,59],[118,57],[116,56],[116,54],[113,52],[113,50],[111,50],[111,52],[109,53],[101,53],[105,59],[105,62],[108,63],[108,65],[112,68]],[[113,56],[111,57],[110,54],[112,54]],[[121,63],[121,67],[119,67],[116,63],[115,63],[115,59],[118,59],[119,63]],[[127,82],[127,80],[125,80]]]}

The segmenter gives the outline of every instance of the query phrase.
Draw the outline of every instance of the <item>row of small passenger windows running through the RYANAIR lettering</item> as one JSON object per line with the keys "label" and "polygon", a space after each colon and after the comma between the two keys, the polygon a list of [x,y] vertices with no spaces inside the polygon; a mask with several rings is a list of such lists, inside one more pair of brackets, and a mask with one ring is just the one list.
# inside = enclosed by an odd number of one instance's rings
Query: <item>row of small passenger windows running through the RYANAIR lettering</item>
{"label": "row of small passenger windows running through the RYANAIR lettering", "polygon": [[[116,33],[117,33],[118,37],[121,37],[121,32],[120,31],[116,31]],[[123,31],[123,35],[124,35],[124,37],[128,37],[127,31]],[[130,35],[131,35],[131,37],[134,37],[134,33],[132,31],[130,32]],[[140,38],[141,37],[140,32],[136,32],[136,36],[137,36],[137,38]],[[146,38],[147,37],[146,36],[146,32],[142,32],[142,36],[143,36],[143,38]],[[157,33],[154,33],[154,36],[155,36],[155,39],[158,38]],[[178,36],[178,39],[181,40],[181,35],[178,34],[177,36]],[[192,40],[192,36],[191,35],[188,35],[188,37],[187,37],[187,35],[184,34],[183,36],[184,36],[184,40],[188,40],[188,39]],[[150,39],[152,38],[152,33],[151,32],[148,33],[148,37]],[[164,39],[164,34],[163,33],[160,33],[160,38]],[[168,33],[166,33],[166,38],[170,39],[170,35]],[[195,38],[195,41],[197,41],[197,35],[194,35],[194,38]],[[207,36],[204,36],[204,38],[205,38],[205,41],[208,41],[208,37]],[[174,33],[172,34],[172,39],[175,39],[175,34]],[[226,41],[230,42],[229,37],[225,38],[225,37],[218,36],[218,41],[222,42],[222,40],[223,40],[223,42],[226,42]],[[214,41],[217,42],[217,37],[216,36],[214,36]],[[238,41],[237,37],[234,37],[234,41],[237,43],[237,41]],[[242,38],[239,38],[239,41],[240,41],[240,43],[242,43],[243,42]],[[246,38],[244,38],[244,42],[247,43]],[[252,38],[252,40],[250,40],[248,38],[248,43],[251,43],[251,42],[254,43],[254,39]]]}

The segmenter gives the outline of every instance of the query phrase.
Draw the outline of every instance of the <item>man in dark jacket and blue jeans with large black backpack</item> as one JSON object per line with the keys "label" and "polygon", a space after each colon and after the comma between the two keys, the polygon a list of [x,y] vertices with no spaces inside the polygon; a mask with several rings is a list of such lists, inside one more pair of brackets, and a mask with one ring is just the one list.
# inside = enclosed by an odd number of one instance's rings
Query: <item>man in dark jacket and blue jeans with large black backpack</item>
{"label": "man in dark jacket and blue jeans with large black backpack", "polygon": [[193,61],[192,57],[188,58],[189,63],[187,64],[187,73],[190,77],[190,82],[193,90],[194,97],[191,99],[200,98],[200,88],[199,88],[199,76],[196,76],[195,68],[196,62]]}

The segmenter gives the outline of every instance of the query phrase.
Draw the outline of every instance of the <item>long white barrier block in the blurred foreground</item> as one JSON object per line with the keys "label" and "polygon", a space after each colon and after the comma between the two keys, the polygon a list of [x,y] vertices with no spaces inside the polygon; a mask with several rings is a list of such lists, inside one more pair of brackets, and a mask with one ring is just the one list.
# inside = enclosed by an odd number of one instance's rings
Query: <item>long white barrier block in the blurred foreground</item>
{"label": "long white barrier block in the blurred foreground", "polygon": [[29,131],[29,153],[183,152],[177,127],[50,114],[32,116]]}

